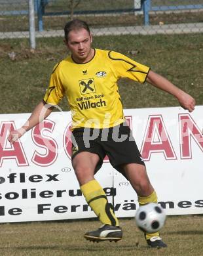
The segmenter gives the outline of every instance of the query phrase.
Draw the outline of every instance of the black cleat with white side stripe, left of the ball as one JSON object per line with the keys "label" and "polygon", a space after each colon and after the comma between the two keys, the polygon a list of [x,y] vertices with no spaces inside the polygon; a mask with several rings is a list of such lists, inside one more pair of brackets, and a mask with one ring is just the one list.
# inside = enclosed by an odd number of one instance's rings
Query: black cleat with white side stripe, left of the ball
{"label": "black cleat with white side stripe, left of the ball", "polygon": [[122,238],[122,230],[120,226],[111,226],[109,224],[103,224],[98,230],[86,232],[84,238],[92,242],[117,242]]}

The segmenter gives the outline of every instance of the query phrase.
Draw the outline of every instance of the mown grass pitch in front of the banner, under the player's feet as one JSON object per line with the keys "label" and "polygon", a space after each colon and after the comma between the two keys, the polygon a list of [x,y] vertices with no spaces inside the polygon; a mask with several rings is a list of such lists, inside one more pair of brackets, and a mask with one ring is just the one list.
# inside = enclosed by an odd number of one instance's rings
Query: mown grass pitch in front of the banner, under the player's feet
{"label": "mown grass pitch in front of the banner, under the player's feet", "polygon": [[98,228],[98,221],[1,224],[3,256],[202,256],[203,216],[168,217],[161,236],[167,248],[147,247],[134,219],[121,219],[120,242],[92,243],[86,231]]}

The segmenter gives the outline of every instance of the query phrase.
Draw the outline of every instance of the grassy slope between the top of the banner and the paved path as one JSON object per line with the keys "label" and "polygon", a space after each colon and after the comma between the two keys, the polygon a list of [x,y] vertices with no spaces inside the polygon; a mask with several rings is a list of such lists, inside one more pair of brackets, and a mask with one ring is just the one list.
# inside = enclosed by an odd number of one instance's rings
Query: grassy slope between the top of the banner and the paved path
{"label": "grassy slope between the top of the banner and the paved path", "polygon": [[[203,34],[120,35],[94,37],[94,47],[124,53],[164,75],[181,89],[203,102]],[[9,53],[16,54],[14,60]],[[0,113],[31,112],[43,98],[52,68],[67,54],[63,39],[37,39],[35,53],[29,51],[27,39],[0,41],[1,94]],[[124,108],[178,106],[167,93],[145,83],[120,80]],[[68,110],[66,100],[60,107]]]}

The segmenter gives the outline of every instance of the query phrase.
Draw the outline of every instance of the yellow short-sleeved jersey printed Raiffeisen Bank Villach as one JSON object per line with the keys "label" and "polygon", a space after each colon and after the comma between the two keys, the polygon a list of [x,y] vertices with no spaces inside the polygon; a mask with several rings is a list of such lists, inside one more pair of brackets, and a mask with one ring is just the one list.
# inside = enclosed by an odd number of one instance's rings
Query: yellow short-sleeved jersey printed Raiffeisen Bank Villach
{"label": "yellow short-sleeved jersey printed Raiffeisen Bank Villach", "polygon": [[149,67],[114,51],[95,49],[92,60],[84,64],[67,56],[54,67],[43,100],[57,105],[65,95],[72,129],[114,127],[124,122],[117,81],[128,77],[144,83],[148,72]]}

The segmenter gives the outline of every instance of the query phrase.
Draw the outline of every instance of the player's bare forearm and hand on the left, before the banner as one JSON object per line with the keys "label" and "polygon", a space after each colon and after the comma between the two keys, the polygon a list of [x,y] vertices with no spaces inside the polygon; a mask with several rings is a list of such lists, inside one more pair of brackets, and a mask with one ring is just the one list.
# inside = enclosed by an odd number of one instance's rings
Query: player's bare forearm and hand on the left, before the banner
{"label": "player's bare forearm and hand on the left, before the banner", "polygon": [[16,140],[20,139],[20,137],[22,137],[26,131],[29,131],[31,128],[35,127],[35,125],[38,125],[38,123],[48,117],[51,112],[52,108],[48,108],[48,106],[46,106],[43,102],[40,102],[33,110],[29,119],[22,127],[20,127],[20,129],[10,131],[9,142],[12,144]]}

